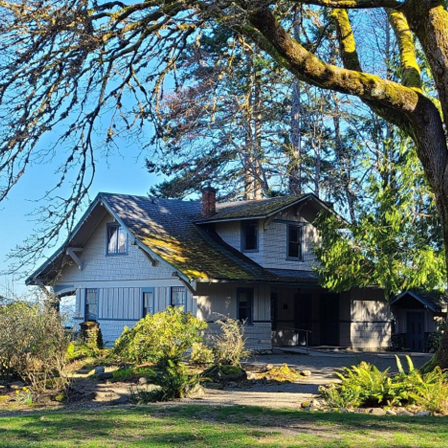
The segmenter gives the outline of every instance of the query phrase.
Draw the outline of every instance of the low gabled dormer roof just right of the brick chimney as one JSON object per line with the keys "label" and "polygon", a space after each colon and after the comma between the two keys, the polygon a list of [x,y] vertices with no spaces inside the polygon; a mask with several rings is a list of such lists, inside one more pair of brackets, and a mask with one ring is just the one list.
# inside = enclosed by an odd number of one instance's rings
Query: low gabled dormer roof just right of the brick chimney
{"label": "low gabled dormer roof just right of the brick chimney", "polygon": [[[219,221],[248,220],[269,218],[293,206],[313,204],[319,210],[331,211],[328,205],[316,195],[309,193],[299,196],[279,196],[276,198],[259,199],[256,201],[238,201],[217,203],[216,213],[211,217],[198,215],[196,223],[216,223]],[[333,211],[331,211],[334,213]]]}

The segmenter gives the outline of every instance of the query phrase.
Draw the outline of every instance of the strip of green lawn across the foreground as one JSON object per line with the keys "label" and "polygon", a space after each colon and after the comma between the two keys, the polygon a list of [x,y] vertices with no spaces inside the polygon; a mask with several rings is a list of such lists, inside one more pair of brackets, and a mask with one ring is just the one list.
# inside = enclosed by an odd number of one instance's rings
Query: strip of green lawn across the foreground
{"label": "strip of green lawn across the foreground", "polygon": [[448,418],[243,406],[148,406],[0,417],[1,448],[448,447]]}

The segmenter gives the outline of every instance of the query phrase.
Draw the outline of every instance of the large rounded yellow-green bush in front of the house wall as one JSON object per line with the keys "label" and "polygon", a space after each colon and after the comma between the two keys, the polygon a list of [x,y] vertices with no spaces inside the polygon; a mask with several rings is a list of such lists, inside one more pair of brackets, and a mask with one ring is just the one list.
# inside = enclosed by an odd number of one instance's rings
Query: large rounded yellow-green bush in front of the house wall
{"label": "large rounded yellow-green bush in front of the house wall", "polygon": [[200,342],[200,331],[207,323],[169,307],[162,313],[147,315],[135,327],[123,330],[115,341],[113,353],[125,362],[179,363],[194,342]]}

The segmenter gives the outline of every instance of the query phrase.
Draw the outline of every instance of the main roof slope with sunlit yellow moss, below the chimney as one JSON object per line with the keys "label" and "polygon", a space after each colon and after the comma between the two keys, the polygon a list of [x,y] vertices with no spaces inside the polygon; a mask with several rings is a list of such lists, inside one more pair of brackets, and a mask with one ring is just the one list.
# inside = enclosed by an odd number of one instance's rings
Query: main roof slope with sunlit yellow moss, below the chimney
{"label": "main roof slope with sunlit yellow moss, below the chimney", "polygon": [[108,193],[101,198],[136,239],[189,279],[311,281],[299,272],[293,276],[264,269],[208,226],[194,224],[199,202]]}

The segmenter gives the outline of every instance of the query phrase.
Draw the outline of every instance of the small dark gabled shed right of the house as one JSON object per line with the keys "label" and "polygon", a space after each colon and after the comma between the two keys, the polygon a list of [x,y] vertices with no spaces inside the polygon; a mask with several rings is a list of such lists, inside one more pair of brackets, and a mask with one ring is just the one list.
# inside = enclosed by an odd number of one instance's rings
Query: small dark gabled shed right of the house
{"label": "small dark gabled shed right of the house", "polygon": [[447,302],[447,295],[437,291],[409,290],[395,297],[390,302],[395,318],[394,347],[431,351],[437,321],[447,315]]}

